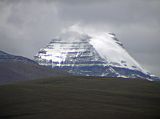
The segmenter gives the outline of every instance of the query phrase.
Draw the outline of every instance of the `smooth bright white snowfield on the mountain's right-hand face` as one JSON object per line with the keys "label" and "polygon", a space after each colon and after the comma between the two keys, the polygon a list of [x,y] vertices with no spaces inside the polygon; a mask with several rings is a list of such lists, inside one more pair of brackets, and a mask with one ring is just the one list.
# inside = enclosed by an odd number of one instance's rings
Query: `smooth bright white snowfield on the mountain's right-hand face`
{"label": "smooth bright white snowfield on the mountain's right-hand face", "polygon": [[115,36],[111,36],[107,33],[92,35],[90,43],[100,56],[107,60],[110,65],[144,71],[144,69],[124,49],[122,43],[117,41]]}

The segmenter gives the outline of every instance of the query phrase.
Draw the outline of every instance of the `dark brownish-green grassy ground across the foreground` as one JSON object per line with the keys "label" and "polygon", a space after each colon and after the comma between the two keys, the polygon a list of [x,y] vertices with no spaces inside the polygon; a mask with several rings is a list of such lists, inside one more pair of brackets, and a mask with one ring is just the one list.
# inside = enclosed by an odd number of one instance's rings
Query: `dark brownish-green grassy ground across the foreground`
{"label": "dark brownish-green grassy ground across the foreground", "polygon": [[160,119],[160,83],[59,77],[0,86],[0,119]]}

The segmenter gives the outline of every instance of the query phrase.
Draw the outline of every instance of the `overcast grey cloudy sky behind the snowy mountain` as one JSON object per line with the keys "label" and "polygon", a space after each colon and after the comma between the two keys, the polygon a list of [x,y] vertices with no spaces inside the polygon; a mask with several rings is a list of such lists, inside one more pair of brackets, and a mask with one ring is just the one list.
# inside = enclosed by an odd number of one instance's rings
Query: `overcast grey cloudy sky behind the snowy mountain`
{"label": "overcast grey cloudy sky behind the snowy mountain", "polygon": [[0,50],[33,58],[74,24],[114,32],[160,76],[160,0],[0,0]]}

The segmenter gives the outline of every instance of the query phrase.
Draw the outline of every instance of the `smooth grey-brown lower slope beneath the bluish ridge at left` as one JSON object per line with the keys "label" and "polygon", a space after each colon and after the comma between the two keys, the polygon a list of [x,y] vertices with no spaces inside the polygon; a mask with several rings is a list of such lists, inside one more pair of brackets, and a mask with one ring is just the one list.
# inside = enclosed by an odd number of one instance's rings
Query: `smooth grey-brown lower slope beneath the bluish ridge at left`
{"label": "smooth grey-brown lower slope beneath the bluish ridge at left", "polygon": [[3,62],[0,63],[0,84],[15,81],[67,75],[65,72],[50,69],[33,63]]}

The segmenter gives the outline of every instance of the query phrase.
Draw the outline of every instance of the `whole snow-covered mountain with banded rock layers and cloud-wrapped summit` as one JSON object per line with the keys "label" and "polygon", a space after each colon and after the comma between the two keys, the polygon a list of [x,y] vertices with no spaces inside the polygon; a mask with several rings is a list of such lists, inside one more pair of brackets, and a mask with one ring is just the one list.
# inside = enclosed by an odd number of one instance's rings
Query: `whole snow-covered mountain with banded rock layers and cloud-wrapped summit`
{"label": "whole snow-covered mountain with banded rock layers and cloud-wrapped summit", "polygon": [[64,30],[35,56],[35,61],[81,76],[158,79],[145,71],[114,33]]}

